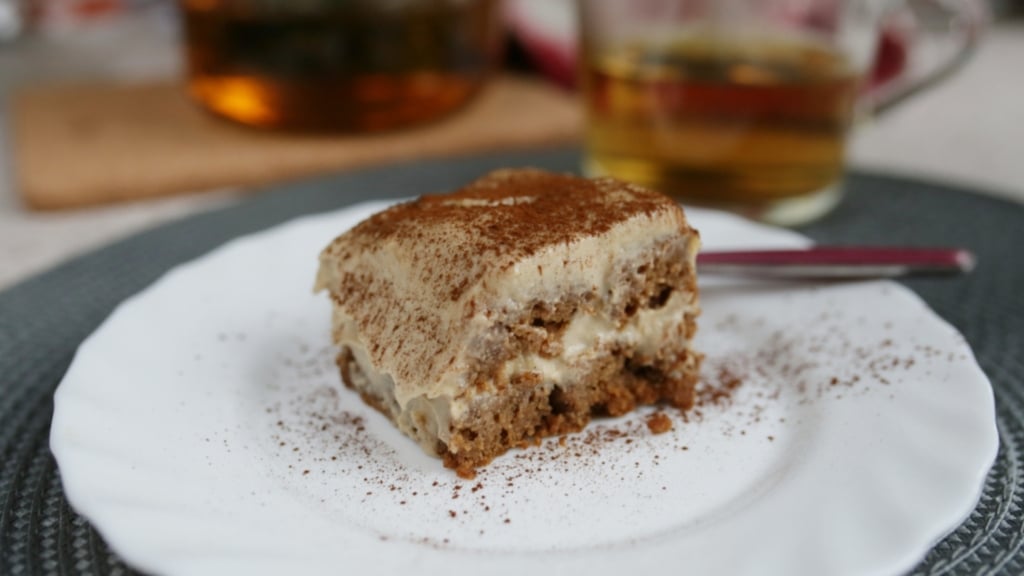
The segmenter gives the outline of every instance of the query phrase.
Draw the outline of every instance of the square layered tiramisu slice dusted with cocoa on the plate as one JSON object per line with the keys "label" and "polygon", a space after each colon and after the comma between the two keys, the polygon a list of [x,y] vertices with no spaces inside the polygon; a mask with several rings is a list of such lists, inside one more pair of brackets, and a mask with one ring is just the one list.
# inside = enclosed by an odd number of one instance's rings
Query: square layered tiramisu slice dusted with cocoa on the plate
{"label": "square layered tiramisu slice dusted with cocoa on the plate", "polygon": [[345,383],[467,476],[592,415],[689,408],[698,244],[659,194],[501,170],[343,234],[316,287]]}

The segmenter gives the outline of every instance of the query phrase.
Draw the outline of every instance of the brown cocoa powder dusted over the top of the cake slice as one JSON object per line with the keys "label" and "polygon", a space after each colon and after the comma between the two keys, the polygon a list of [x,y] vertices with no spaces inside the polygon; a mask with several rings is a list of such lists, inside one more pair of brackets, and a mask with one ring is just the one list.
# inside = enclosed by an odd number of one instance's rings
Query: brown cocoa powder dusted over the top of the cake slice
{"label": "brown cocoa powder dusted over the top of the cake slice", "polygon": [[[445,286],[458,299],[482,269],[466,265],[485,256],[500,268],[546,246],[597,236],[655,211],[679,212],[671,199],[611,178],[581,178],[536,169],[498,170],[444,195],[427,195],[364,220],[327,249],[341,259],[384,241],[408,245],[451,271]],[[342,247],[345,247],[344,249]]]}

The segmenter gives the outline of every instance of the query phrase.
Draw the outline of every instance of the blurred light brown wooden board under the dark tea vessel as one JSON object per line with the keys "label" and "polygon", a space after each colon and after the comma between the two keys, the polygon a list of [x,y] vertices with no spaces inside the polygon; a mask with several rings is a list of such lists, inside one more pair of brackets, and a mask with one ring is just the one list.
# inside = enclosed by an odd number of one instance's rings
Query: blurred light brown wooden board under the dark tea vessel
{"label": "blurred light brown wooden board under the dark tea vessel", "polygon": [[377,135],[282,134],[204,113],[176,83],[47,86],[12,98],[17,188],[63,209],[253,186],[398,160],[553,146],[579,138],[575,98],[502,77],[443,121]]}

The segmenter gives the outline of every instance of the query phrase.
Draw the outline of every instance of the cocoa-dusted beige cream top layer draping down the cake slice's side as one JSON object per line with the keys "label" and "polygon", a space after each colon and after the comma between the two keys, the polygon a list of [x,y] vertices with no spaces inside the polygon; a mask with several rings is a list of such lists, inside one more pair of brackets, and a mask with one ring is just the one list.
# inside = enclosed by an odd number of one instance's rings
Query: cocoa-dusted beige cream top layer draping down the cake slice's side
{"label": "cocoa-dusted beige cream top layer draping down the cake slice's side", "polygon": [[496,315],[564,293],[613,297],[615,261],[678,235],[695,233],[659,194],[610,178],[502,170],[340,236],[321,254],[317,288],[347,317],[338,336],[366,347],[401,403],[464,385],[457,375],[485,345]]}

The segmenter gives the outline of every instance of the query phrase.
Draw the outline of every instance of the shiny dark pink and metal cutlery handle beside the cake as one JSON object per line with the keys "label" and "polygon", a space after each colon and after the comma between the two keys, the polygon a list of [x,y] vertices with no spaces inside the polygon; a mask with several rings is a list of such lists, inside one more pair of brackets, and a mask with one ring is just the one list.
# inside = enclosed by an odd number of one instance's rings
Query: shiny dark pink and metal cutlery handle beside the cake
{"label": "shiny dark pink and metal cutlery handle beside the cake", "polygon": [[963,248],[818,246],[797,250],[711,251],[697,254],[700,274],[767,278],[895,278],[964,274],[975,257]]}

